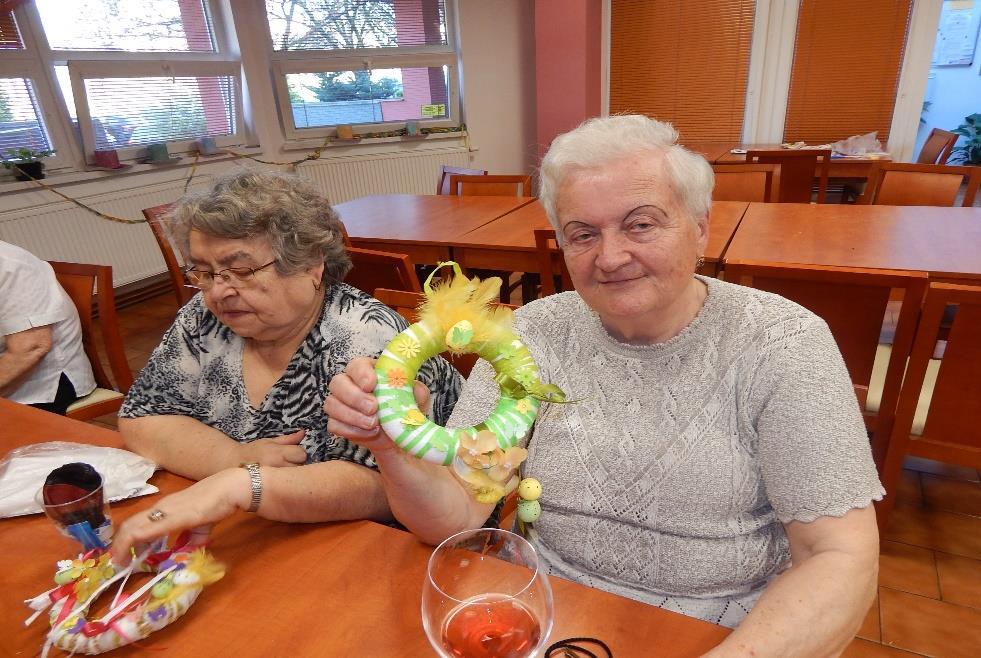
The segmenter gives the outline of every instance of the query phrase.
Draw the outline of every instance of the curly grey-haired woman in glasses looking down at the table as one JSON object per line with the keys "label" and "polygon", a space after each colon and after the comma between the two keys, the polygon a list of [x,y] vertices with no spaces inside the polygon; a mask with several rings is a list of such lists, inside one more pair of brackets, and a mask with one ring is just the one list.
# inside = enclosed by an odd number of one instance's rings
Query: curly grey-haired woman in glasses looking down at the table
{"label": "curly grey-haired woman in glasses looking down at the table", "polygon": [[[296,177],[249,171],[185,197],[171,220],[201,292],[130,389],[119,429],[161,467],[207,479],[124,524],[117,550],[237,508],[390,519],[371,453],[327,430],[323,403],[350,359],[380,354],[406,323],[341,282],[351,261],[328,201]],[[445,421],[459,374],[433,359],[420,380]]]}

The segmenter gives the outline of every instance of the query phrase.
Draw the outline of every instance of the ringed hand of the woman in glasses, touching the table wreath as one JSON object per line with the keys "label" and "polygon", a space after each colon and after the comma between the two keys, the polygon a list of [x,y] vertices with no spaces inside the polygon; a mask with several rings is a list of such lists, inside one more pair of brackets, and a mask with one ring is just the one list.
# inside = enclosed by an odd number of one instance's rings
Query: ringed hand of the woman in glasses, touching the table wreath
{"label": "ringed hand of the woman in glasses, touching the table wreath", "polygon": [[245,469],[229,468],[161,498],[119,526],[111,547],[113,562],[129,564],[130,548],[138,553],[142,545],[185,529],[191,530],[189,546],[207,543],[215,523],[249,506],[250,491]]}

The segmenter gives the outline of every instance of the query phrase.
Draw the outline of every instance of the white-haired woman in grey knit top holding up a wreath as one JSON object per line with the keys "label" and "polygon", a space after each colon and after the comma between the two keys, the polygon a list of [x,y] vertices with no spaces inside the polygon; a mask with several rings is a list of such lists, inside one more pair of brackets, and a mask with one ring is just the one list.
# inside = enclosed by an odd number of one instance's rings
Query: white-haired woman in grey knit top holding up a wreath
{"label": "white-haired woman in grey knit top holding up a wreath", "polygon": [[[772,294],[695,274],[712,170],[641,116],[587,121],[551,145],[541,201],[575,292],[515,329],[545,403],[523,475],[543,488],[529,535],[552,573],[736,628],[712,655],[840,652],[875,594],[879,484],[826,324]],[[478,363],[450,425],[498,394]],[[435,543],[490,505],[393,447],[367,360],[331,382],[331,431],[369,447],[396,518]]]}

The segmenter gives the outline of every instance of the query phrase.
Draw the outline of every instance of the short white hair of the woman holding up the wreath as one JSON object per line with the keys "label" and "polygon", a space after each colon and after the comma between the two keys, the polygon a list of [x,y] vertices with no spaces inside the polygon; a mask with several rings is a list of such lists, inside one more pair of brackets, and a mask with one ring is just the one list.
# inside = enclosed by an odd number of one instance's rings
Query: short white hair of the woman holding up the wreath
{"label": "short white hair of the woman holding up the wreath", "polygon": [[715,185],[712,166],[702,156],[678,144],[678,131],[670,123],[640,114],[597,117],[556,137],[542,158],[538,198],[556,233],[560,227],[555,195],[570,171],[598,167],[649,151],[664,153],[668,180],[692,217],[708,215]]}

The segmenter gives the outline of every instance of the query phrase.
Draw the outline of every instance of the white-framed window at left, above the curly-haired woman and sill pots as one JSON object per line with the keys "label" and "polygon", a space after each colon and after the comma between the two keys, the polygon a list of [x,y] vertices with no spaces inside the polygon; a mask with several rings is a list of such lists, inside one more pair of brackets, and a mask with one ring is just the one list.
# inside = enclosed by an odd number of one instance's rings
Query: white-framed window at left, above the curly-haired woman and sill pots
{"label": "white-framed window at left, above the curly-haired woman and sill pots", "polygon": [[[212,8],[209,0],[35,0],[20,10],[43,35],[34,61],[53,73],[48,109],[62,108],[64,132],[77,135],[86,161],[106,149],[135,159],[159,142],[191,151],[204,136],[244,142],[241,64]],[[12,34],[0,20],[0,46]],[[48,107],[44,98],[40,105]],[[37,102],[34,109],[35,132],[43,132]]]}

